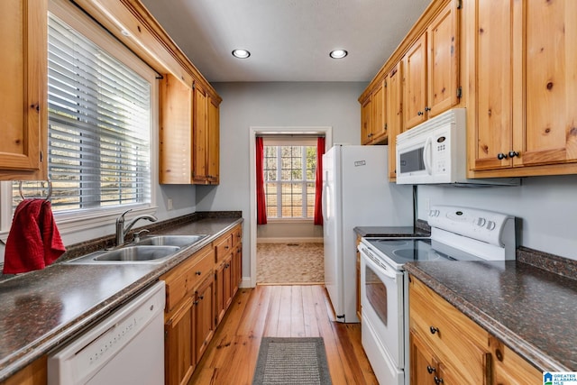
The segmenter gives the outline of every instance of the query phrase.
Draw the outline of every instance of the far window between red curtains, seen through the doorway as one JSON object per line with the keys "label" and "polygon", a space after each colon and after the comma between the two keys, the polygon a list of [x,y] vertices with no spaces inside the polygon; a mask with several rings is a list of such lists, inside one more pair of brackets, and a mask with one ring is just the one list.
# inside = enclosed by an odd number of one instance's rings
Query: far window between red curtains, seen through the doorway
{"label": "far window between red curtains, seen through the doorway", "polygon": [[314,217],[315,141],[264,140],[264,190],[269,219]]}

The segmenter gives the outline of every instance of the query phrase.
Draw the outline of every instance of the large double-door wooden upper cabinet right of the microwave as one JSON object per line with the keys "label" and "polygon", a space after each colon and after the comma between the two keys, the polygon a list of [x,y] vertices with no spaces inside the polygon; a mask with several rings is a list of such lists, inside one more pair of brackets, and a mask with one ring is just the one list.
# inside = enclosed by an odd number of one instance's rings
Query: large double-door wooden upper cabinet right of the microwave
{"label": "large double-door wooden upper cabinet right of the microwave", "polygon": [[[572,1],[476,1],[469,164],[479,176],[577,172]],[[530,167],[527,167],[530,166]]]}

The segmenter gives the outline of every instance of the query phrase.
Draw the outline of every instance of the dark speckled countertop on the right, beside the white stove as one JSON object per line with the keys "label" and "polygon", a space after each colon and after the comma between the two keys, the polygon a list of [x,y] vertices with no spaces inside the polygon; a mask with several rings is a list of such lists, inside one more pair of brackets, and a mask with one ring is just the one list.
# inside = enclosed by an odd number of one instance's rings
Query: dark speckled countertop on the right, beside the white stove
{"label": "dark speckled countertop on the right, beside the white stove", "polygon": [[577,280],[518,259],[405,267],[538,370],[577,371]]}

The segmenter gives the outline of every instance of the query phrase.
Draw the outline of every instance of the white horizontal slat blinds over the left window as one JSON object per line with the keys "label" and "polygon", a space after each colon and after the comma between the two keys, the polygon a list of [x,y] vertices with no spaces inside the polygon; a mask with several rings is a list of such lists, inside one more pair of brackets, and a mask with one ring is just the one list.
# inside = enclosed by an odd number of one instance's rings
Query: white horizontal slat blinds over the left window
{"label": "white horizontal slat blinds over the left window", "polygon": [[151,201],[151,84],[49,17],[49,176],[55,211]]}

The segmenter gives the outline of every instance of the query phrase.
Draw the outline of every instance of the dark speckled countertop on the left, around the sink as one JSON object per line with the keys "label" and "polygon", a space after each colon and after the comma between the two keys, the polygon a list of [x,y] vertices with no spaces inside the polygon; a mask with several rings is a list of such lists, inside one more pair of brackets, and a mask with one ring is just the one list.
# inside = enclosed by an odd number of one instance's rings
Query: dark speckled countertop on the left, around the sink
{"label": "dark speckled countertop on the left, around the sink", "polygon": [[[243,222],[240,215],[187,219],[188,222],[155,225],[151,230],[154,234],[209,235],[165,263],[79,265],[58,261],[44,270],[0,281],[0,381],[66,344],[149,287],[160,275]],[[89,243],[75,246],[72,249],[76,254],[94,247]],[[74,251],[67,254],[68,258],[76,256]]]}

